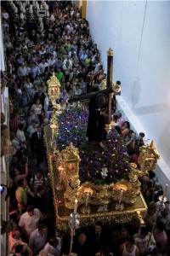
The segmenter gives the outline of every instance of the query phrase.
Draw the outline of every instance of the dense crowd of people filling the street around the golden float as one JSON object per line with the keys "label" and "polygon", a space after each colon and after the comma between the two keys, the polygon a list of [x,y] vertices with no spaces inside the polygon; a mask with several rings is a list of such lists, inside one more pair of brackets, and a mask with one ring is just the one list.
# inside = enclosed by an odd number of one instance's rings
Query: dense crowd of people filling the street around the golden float
{"label": "dense crowd of people filling the street around the golden float", "polygon": [[[53,113],[47,80],[53,74],[59,79],[58,100],[65,111],[71,108],[68,99],[98,90],[106,78],[99,49],[90,36],[88,20],[82,19],[81,10],[69,1],[47,3],[43,17],[37,12],[43,2],[8,1],[2,3],[1,10],[7,65],[3,79],[9,92],[13,154],[9,172],[9,215],[16,224],[9,233],[8,246],[10,255],[17,256],[59,256],[70,252],[71,236],[55,236],[48,167],[47,175],[40,170],[42,161],[46,162],[43,128],[49,124]],[[114,128],[122,135],[129,159],[138,163],[144,133],[137,136],[122,113],[116,113],[115,102],[112,105]],[[105,111],[98,110],[105,117]],[[3,113],[3,125],[2,120]],[[3,125],[2,131],[5,129]],[[99,143],[102,140],[103,137]],[[29,169],[28,151],[37,159],[36,173]],[[163,191],[153,172],[141,178],[141,191],[148,212],[145,226],[138,233],[122,225],[116,230],[96,222],[88,230],[77,231],[72,252],[77,256],[169,255],[170,213],[168,204],[163,211],[157,212],[156,202]]]}

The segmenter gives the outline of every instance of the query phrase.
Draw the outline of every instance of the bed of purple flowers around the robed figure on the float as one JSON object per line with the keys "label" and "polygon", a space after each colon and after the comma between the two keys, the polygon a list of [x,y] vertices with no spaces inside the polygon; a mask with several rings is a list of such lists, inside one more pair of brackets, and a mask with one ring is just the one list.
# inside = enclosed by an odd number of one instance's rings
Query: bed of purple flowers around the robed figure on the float
{"label": "bed of purple flowers around the robed figure on the float", "polygon": [[[112,129],[105,142],[107,150],[88,151],[85,149],[87,125],[87,110],[71,109],[59,115],[57,145],[59,150],[62,150],[72,142],[79,149],[81,182],[109,184],[116,183],[122,178],[128,179],[130,166],[122,136]],[[105,178],[101,174],[102,168],[107,168]]]}

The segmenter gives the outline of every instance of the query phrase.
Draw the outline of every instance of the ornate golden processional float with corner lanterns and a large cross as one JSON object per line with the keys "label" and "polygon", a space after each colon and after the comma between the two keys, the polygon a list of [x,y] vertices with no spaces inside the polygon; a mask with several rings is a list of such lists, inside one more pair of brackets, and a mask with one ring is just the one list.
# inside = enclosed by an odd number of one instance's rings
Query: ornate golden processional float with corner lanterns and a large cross
{"label": "ornate golden processional float with corner lanterns and a large cross", "polygon": [[[72,101],[89,99],[99,93],[104,93],[108,97],[107,112],[108,118],[105,130],[109,134],[111,131],[111,93],[119,93],[121,88],[119,85],[112,83],[112,67],[113,67],[113,50],[108,50],[108,71],[107,81],[104,81],[103,90],[99,92],[90,93],[85,96],[79,96]],[[106,88],[105,88],[106,87]],[[61,150],[56,146],[56,135],[58,130],[58,115],[61,113],[59,103],[59,80],[53,75],[48,80],[48,96],[54,105],[54,114],[50,119],[50,127],[45,132],[45,144],[48,153],[48,166],[51,186],[54,195],[54,207],[56,212],[56,224],[60,230],[68,230],[68,216],[71,210],[77,214],[77,207],[79,207],[80,215],[77,215],[77,222],[79,226],[79,219],[81,226],[87,224],[94,224],[96,220],[103,222],[115,221],[116,223],[129,222],[132,218],[138,218],[139,223],[142,223],[142,217],[146,212],[146,204],[142,195],[140,195],[139,177],[142,177],[150,170],[156,168],[156,162],[160,158],[156,151],[154,142],[146,144],[140,148],[139,166],[134,163],[130,164],[131,172],[127,179],[121,179],[116,183],[99,185],[89,181],[81,183],[79,178],[79,165],[81,162],[78,148],[70,143],[68,147]],[[52,134],[52,136],[50,135]],[[107,177],[107,168],[100,170],[102,178]],[[135,207],[136,201],[141,199],[142,207]],[[108,211],[108,205],[114,204],[111,212]],[[127,209],[124,209],[124,204]],[[90,209],[90,207],[94,209]],[[126,208],[126,207],[125,207]],[[117,212],[116,210],[122,210]],[[63,215],[61,214],[63,212]],[[69,213],[68,213],[69,212]],[[107,215],[105,215],[107,212]],[[76,215],[74,215],[76,216]],[[105,217],[106,216],[106,217]],[[71,221],[70,221],[71,223]]]}

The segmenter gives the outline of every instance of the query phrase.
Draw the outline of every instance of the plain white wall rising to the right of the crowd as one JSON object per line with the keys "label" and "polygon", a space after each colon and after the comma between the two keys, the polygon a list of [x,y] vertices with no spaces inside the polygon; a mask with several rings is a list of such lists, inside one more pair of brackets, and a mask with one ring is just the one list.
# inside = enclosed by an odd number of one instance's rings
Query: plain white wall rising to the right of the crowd
{"label": "plain white wall rising to the right of the crowd", "polygon": [[170,180],[169,17],[169,1],[88,1],[87,5],[90,31],[105,70],[106,51],[114,49],[113,80],[122,82],[117,100],[121,108],[127,106],[133,126],[138,123],[156,143],[165,169],[163,183]]}

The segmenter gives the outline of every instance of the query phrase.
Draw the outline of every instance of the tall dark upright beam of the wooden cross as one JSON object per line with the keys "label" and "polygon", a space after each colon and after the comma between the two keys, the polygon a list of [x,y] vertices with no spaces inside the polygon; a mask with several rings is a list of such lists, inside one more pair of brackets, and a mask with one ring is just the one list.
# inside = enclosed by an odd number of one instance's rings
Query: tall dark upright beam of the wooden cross
{"label": "tall dark upright beam of the wooden cross", "polygon": [[[113,49],[107,51],[107,89],[112,87],[112,73],[113,73]],[[108,117],[106,119],[106,125],[111,124],[111,93],[108,95],[109,101],[107,105]]]}

